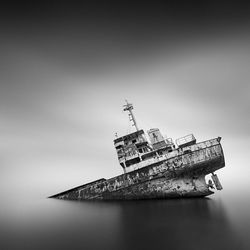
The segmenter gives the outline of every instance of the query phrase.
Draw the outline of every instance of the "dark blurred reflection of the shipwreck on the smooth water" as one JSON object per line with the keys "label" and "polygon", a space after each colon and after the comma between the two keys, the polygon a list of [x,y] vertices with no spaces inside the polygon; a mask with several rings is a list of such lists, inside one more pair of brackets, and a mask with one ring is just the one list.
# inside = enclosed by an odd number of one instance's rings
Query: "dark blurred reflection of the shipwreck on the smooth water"
{"label": "dark blurred reflection of the shipwreck on the smooth water", "polygon": [[211,199],[123,202],[121,249],[243,249],[222,203]]}

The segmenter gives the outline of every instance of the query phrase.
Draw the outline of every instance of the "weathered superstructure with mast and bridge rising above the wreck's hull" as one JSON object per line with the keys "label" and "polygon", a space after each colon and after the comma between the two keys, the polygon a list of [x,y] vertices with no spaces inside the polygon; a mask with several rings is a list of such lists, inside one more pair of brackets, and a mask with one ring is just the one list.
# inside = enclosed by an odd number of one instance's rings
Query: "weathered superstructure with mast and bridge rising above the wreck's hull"
{"label": "weathered superstructure with mast and bridge rising above the wreck's hull", "polygon": [[[123,110],[129,112],[129,118],[132,125],[136,127],[136,132],[114,140],[118,160],[124,173],[146,167],[162,157],[171,157],[171,155],[174,155],[174,153],[170,154],[171,152],[178,151],[172,138],[164,138],[158,128],[151,128],[147,131],[148,141],[144,130],[138,129],[132,109],[133,105],[126,100]],[[184,152],[195,143],[196,139],[193,134],[176,140],[176,145]]]}

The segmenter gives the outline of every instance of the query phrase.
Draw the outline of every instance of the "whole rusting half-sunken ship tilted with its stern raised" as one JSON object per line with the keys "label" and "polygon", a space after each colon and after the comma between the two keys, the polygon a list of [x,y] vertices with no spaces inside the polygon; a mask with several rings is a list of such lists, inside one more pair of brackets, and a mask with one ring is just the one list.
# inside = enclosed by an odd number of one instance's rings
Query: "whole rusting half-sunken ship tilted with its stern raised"
{"label": "whole rusting half-sunken ship tilted with its stern raised", "polygon": [[[99,179],[50,198],[68,200],[131,200],[177,197],[204,197],[222,186],[216,170],[225,166],[221,137],[196,142],[193,134],[174,143],[164,138],[158,128],[139,129],[133,105],[126,101],[136,131],[114,140],[118,161],[124,173]],[[205,176],[211,174],[206,182]]]}

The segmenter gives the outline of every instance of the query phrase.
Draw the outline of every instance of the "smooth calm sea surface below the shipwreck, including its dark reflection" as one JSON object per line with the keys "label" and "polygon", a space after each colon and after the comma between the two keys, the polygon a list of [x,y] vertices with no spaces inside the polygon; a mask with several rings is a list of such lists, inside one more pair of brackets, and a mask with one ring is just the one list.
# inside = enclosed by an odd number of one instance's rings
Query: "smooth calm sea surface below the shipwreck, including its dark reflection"
{"label": "smooth calm sea surface below the shipwreck, including its dark reflection", "polygon": [[1,202],[0,249],[250,249],[248,196]]}

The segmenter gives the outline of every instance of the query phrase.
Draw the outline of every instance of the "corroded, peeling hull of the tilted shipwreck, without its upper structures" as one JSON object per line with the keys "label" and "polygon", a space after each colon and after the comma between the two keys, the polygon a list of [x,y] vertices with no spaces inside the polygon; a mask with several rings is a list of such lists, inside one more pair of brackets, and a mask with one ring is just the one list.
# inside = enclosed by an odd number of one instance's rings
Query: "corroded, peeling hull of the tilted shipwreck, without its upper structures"
{"label": "corroded, peeling hull of the tilted shipwreck, without its upper structures", "polygon": [[225,166],[220,138],[158,157],[147,167],[111,179],[100,179],[50,198],[125,200],[207,196],[213,192],[205,175]]}

